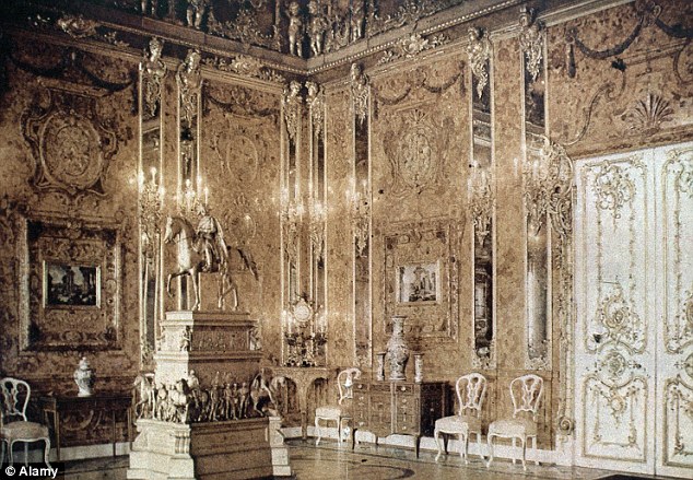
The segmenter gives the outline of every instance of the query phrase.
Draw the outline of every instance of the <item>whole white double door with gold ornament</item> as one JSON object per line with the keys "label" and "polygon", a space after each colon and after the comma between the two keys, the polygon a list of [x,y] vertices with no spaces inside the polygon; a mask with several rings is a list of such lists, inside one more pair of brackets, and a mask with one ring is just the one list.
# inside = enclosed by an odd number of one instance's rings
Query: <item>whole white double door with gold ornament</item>
{"label": "whole white double door with gold ornament", "polygon": [[576,464],[693,475],[693,144],[576,162]]}

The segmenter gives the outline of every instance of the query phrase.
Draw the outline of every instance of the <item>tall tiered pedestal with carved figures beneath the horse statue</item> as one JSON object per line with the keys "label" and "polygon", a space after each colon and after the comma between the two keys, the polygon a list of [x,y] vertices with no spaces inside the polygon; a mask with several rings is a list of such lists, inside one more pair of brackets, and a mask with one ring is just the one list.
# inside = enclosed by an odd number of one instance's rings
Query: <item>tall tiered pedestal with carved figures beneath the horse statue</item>
{"label": "tall tiered pedestal with carved figures beneath the horse statue", "polygon": [[[224,407],[224,388],[243,391],[262,356],[250,350],[245,313],[168,312],[156,362],[156,403],[138,420],[128,479],[222,480],[271,477],[269,419],[252,413],[247,390]],[[195,371],[193,374],[190,372]],[[181,385],[188,385],[189,389]],[[233,385],[237,389],[233,389]],[[166,390],[167,399],[158,395]],[[238,398],[240,394],[234,394]],[[233,412],[233,413],[231,413]]]}

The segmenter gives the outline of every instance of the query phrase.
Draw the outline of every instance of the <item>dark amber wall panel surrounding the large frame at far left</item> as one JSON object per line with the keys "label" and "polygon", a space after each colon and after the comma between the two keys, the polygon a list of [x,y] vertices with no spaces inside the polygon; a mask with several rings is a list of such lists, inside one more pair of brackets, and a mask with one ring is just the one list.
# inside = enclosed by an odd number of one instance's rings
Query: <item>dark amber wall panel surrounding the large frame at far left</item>
{"label": "dark amber wall panel surrounding the large frame at far left", "polygon": [[[119,280],[109,277],[110,271],[102,272],[108,282],[105,286],[119,289],[120,335],[115,342],[108,340],[109,333],[104,336],[110,330],[103,330],[95,333],[94,341],[81,343],[82,335],[90,336],[83,329],[61,351],[45,349],[40,342],[20,351],[21,339],[32,333],[22,323],[21,313],[30,307],[30,295],[22,289],[28,285],[32,295],[44,302],[45,267],[31,255],[3,261],[0,274],[5,288],[0,304],[7,333],[0,358],[2,372],[26,378],[38,391],[77,391],[72,373],[79,358],[86,354],[97,374],[97,390],[129,389],[139,356],[137,235],[132,234],[137,187],[130,183],[138,154],[133,141],[137,65],[97,52],[26,42],[19,35],[9,38],[8,48],[8,90],[0,119],[4,139],[0,191],[10,203],[23,206],[15,210],[21,213],[10,215],[11,221],[4,223],[4,231],[11,232],[11,238],[5,236],[12,245],[8,251],[26,247],[23,229],[26,232],[27,219],[36,215],[49,223],[59,219],[78,229],[86,222],[93,238],[101,238],[114,225],[122,229],[122,235]],[[35,274],[30,276],[30,271]],[[116,318],[109,307],[104,304],[101,309],[101,315],[108,317],[106,323]],[[97,347],[99,342],[103,344]]]}

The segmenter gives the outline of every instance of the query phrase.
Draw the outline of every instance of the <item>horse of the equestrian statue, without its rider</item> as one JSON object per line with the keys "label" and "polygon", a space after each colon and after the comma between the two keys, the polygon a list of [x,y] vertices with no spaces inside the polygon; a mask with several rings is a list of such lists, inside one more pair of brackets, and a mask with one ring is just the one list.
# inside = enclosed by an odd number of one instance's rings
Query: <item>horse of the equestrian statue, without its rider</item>
{"label": "horse of the equestrian statue, without its rider", "polygon": [[[166,292],[168,295],[173,295],[171,292],[171,280],[176,277],[189,276],[195,295],[195,302],[192,303],[190,309],[198,311],[200,309],[200,285],[198,281],[198,273],[218,273],[218,306],[220,309],[224,309],[225,297],[227,294],[232,293],[232,309],[236,311],[236,308],[238,308],[238,291],[231,270],[230,253],[232,249],[226,246],[223,238],[216,237],[214,239],[216,245],[213,248],[214,258],[212,258],[211,265],[207,265],[208,260],[205,259],[204,253],[201,251],[201,248],[199,247],[200,238],[198,238],[198,234],[190,222],[183,216],[168,216],[166,219],[164,243],[168,244],[171,242],[176,242],[178,245],[178,270],[169,273],[166,279]],[[236,248],[236,250],[243,259],[244,267],[249,269],[257,280],[258,271],[250,256],[240,248]]]}

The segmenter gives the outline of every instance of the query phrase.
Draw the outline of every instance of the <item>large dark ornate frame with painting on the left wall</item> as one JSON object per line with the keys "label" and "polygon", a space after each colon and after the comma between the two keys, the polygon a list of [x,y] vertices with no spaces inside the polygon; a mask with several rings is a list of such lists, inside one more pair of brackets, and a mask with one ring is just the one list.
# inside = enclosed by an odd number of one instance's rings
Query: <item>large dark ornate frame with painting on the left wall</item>
{"label": "large dark ornate frame with painting on the left wall", "polygon": [[120,225],[32,216],[22,222],[21,235],[21,349],[119,350]]}

